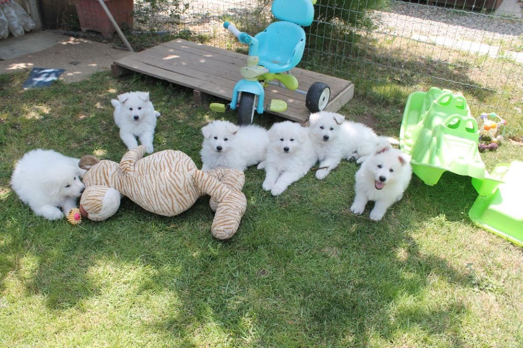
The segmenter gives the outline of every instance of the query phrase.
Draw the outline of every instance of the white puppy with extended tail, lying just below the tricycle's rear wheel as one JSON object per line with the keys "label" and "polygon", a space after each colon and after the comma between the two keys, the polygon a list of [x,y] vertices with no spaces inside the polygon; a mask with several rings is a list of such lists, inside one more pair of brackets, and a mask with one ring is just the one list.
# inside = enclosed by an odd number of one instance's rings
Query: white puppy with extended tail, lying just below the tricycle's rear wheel
{"label": "white puppy with extended tail, lying just below the tricycle's rear wheel", "polygon": [[342,159],[356,159],[362,163],[383,139],[397,144],[397,140],[379,137],[365,124],[347,121],[344,115],[335,112],[311,114],[309,126],[314,150],[320,160],[320,169],[316,171],[316,178],[320,180],[335,169]]}

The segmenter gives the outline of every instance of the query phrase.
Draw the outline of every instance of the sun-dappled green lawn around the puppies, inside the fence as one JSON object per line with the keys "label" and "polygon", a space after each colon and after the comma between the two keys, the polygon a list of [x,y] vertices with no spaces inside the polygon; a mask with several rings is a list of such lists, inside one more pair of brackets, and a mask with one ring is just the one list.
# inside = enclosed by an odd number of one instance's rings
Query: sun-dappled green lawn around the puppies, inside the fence
{"label": "sun-dappled green lawn around the puppies, inside the fence", "polygon": [[[198,166],[200,127],[222,115],[139,75],[23,91],[26,77],[0,75],[0,346],[523,345],[523,249],[470,222],[470,178],[446,173],[429,187],[414,176],[372,222],[369,206],[348,209],[353,163],[324,181],[310,172],[277,198],[251,167],[228,241],[211,236],[208,197],[169,218],[123,200],[105,222],[49,222],[10,190],[15,161],[37,147],[119,161],[111,98],[151,91],[162,113],[155,150],[182,150]],[[356,96],[341,112],[399,132],[397,107]],[[523,148],[507,141],[483,159],[492,169]]]}

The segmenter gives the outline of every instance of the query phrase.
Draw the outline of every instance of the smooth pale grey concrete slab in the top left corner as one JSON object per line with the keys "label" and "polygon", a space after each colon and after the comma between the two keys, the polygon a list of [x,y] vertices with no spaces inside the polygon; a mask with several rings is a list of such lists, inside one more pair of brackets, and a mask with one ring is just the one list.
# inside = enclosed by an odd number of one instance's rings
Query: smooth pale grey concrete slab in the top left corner
{"label": "smooth pale grey concrete slab in the top left corner", "polygon": [[0,41],[0,61],[45,50],[63,41],[63,38],[60,34],[48,31],[26,32],[24,36],[18,38],[10,36]]}

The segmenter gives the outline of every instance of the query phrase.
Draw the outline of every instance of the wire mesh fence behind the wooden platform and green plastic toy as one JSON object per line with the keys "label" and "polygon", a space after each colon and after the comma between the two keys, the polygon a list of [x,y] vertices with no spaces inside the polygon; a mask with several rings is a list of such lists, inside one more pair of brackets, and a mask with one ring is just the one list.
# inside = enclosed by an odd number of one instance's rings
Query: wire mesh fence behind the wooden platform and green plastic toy
{"label": "wire mesh fence behind the wooden platform and green plastic toy", "polygon": [[[130,34],[176,33],[246,53],[222,23],[256,34],[275,20],[271,3],[134,0]],[[460,92],[474,115],[496,112],[521,136],[522,8],[519,0],[318,0],[300,67],[350,79],[356,95],[389,105],[431,86]]]}

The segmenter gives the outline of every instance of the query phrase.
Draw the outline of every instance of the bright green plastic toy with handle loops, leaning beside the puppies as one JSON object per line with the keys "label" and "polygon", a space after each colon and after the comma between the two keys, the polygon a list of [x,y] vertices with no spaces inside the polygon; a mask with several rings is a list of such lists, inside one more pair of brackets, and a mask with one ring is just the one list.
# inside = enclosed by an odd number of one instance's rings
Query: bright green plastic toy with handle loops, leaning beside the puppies
{"label": "bright green plastic toy with handle loops, leaning beside the puppies", "polygon": [[412,157],[412,171],[427,185],[451,171],[478,179],[480,195],[491,194],[501,180],[491,177],[481,160],[480,133],[463,96],[432,87],[408,96],[400,130],[400,148]]}

